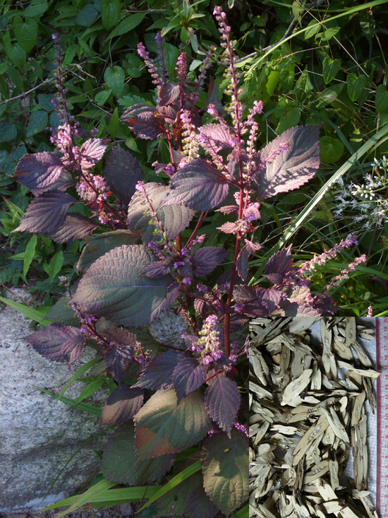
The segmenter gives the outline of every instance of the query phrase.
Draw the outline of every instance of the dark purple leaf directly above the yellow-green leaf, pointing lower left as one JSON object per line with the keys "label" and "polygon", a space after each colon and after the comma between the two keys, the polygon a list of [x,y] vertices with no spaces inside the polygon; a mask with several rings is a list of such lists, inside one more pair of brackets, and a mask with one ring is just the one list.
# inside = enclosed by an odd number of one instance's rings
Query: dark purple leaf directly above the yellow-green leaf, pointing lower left
{"label": "dark purple leaf directly above the yellow-green leaf, pointing lower left", "polygon": [[150,361],[134,387],[143,389],[166,389],[172,384],[172,375],[185,356],[181,351],[169,350]]}

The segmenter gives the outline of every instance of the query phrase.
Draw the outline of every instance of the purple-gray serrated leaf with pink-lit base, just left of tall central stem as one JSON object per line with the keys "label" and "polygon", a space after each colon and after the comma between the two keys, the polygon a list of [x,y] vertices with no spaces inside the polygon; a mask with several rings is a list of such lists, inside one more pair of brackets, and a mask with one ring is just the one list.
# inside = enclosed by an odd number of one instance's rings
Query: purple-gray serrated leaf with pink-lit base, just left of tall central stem
{"label": "purple-gray serrated leaf with pink-lit base, just left of tall central stem", "polygon": [[205,160],[193,160],[171,178],[162,206],[178,204],[209,211],[224,201],[228,191],[228,180],[221,172]]}

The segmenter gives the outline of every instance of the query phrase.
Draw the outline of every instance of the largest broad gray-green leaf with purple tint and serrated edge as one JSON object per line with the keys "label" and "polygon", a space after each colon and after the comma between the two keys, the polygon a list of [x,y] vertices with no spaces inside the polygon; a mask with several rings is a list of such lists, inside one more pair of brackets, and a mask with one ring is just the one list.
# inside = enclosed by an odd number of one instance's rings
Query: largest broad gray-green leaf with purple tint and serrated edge
{"label": "largest broad gray-green leaf with purple tint and serrated edge", "polygon": [[80,280],[73,302],[116,324],[150,324],[162,311],[172,282],[170,276],[140,276],[152,262],[152,252],[139,245],[123,245],[107,252]]}

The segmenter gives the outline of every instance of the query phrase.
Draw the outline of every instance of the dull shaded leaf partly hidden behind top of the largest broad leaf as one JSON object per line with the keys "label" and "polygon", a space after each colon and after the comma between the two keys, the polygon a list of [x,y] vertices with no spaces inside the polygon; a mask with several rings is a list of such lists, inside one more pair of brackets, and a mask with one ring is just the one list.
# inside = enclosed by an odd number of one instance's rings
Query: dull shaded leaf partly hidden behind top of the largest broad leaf
{"label": "dull shaded leaf partly hidden behind top of the largest broad leaf", "polygon": [[121,245],[135,245],[137,241],[138,237],[129,230],[112,230],[111,232],[87,237],[86,245],[83,247],[81,257],[78,260],[77,269],[85,271],[109,250],[121,247]]}

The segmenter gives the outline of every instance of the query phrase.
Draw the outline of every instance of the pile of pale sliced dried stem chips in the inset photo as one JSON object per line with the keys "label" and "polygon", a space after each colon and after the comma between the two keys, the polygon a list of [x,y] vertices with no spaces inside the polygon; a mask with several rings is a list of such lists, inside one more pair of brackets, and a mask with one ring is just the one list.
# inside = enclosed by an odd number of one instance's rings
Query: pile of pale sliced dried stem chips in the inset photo
{"label": "pile of pale sliced dried stem chips in the inset photo", "polygon": [[[250,322],[250,518],[377,518],[368,491],[368,401],[379,372],[353,317]],[[315,343],[317,342],[317,343]],[[343,473],[353,453],[353,477]]]}

